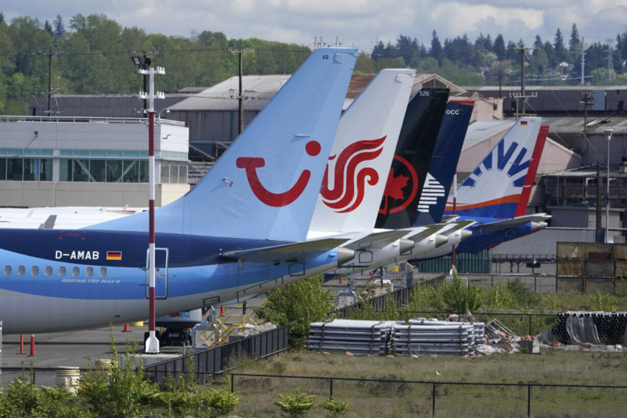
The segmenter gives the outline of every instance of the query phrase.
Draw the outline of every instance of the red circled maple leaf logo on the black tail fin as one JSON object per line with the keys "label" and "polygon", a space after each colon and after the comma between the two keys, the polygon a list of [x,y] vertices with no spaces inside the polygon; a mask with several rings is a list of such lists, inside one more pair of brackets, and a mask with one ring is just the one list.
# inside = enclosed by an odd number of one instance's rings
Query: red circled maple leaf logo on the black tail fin
{"label": "red circled maple leaf logo on the black tail fin", "polygon": [[[408,192],[409,195],[405,196]],[[379,213],[388,215],[401,212],[416,198],[416,193],[418,193],[418,174],[416,174],[416,170],[409,161],[401,156],[394,155],[392,168],[387,176],[386,188],[383,191],[383,207],[379,208]]]}

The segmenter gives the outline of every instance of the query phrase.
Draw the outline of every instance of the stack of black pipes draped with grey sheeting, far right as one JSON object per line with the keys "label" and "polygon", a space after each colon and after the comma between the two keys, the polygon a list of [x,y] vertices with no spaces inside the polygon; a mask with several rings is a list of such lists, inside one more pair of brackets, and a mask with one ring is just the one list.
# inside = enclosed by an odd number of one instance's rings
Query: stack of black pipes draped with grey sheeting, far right
{"label": "stack of black pipes draped with grey sheeting, far right", "polygon": [[[598,341],[581,341],[581,336],[573,335],[572,323],[587,327],[587,332],[596,336]],[[566,311],[557,314],[557,324],[551,333],[562,344],[592,342],[601,344],[623,344],[627,327],[626,312],[581,312]]]}

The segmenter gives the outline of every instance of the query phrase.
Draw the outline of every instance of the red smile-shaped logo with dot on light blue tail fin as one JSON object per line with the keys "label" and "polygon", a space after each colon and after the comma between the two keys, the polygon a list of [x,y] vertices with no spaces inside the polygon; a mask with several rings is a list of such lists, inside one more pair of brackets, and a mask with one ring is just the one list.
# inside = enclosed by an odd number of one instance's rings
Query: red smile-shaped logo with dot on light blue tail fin
{"label": "red smile-shaped logo with dot on light blue tail fin", "polygon": [[[305,151],[307,151],[307,154],[312,157],[320,154],[320,149],[320,144],[317,141],[309,141],[305,144]],[[309,183],[309,178],[311,177],[311,172],[309,170],[303,170],[303,172],[300,173],[295,185],[293,185],[289,190],[284,191],[283,193],[272,193],[261,184],[257,175],[257,168],[261,168],[265,166],[265,164],[265,159],[258,157],[240,157],[235,161],[237,168],[243,168],[246,170],[248,184],[261,203],[265,203],[268,206],[282,207],[297,200],[298,196],[300,196],[305,190],[305,187],[307,187],[307,183]]]}

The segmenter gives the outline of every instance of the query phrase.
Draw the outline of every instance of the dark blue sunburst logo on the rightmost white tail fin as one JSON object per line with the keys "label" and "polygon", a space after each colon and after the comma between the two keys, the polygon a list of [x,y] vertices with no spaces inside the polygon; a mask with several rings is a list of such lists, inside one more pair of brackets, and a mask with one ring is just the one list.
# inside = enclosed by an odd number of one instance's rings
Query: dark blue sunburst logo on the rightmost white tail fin
{"label": "dark blue sunburst logo on the rightmost white tail fin", "polygon": [[506,174],[509,178],[513,178],[512,186],[514,187],[522,187],[525,184],[525,176],[527,176],[527,169],[529,169],[529,164],[531,163],[531,159],[527,159],[527,161],[522,161],[527,154],[527,148],[522,147],[517,154],[514,161],[510,162],[512,156],[516,149],[518,148],[518,142],[512,141],[512,143],[505,151],[505,138],[501,139],[498,142],[496,149],[496,156],[494,153],[494,149],[490,151],[490,154],[486,156],[485,159],[475,168],[475,171],[470,173],[466,180],[461,183],[462,186],[470,186],[475,187],[477,185],[477,180],[484,173],[489,173],[492,171],[492,168],[496,166],[497,171],[505,170],[506,166],[510,164],[510,167],[507,169]]}

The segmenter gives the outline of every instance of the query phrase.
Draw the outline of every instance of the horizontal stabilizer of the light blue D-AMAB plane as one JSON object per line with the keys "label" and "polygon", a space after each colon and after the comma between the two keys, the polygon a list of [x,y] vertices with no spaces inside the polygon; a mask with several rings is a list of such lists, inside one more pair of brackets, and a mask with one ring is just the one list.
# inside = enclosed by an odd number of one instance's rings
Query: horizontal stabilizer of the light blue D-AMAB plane
{"label": "horizontal stabilizer of the light blue D-AMAB plane", "polygon": [[255,263],[278,263],[317,257],[347,242],[348,238],[320,238],[293,244],[225,252],[224,257]]}

